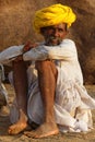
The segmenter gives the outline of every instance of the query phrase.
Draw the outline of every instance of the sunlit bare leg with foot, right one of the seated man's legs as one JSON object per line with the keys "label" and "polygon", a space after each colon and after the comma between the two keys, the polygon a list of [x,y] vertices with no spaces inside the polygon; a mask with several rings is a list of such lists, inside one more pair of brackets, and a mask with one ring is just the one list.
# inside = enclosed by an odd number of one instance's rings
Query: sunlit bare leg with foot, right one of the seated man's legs
{"label": "sunlit bare leg with foot, right one of the seated man's legs", "polygon": [[44,138],[59,132],[54,115],[54,102],[57,81],[57,69],[54,62],[37,61],[39,88],[45,108],[44,123],[35,131],[25,132],[27,137]]}

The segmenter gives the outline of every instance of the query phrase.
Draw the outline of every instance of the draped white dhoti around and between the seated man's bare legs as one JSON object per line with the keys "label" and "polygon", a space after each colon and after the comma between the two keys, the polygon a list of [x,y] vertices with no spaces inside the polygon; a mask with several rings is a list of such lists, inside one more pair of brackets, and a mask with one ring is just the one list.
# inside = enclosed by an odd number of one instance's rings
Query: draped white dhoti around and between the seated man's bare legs
{"label": "draped white dhoti around and between the seated man's bare legs", "polygon": [[[40,125],[44,118],[44,107],[38,88],[37,73],[36,70],[29,68],[27,74],[29,82],[27,115],[31,121]],[[70,80],[66,82],[66,79],[63,70],[58,68],[54,105],[56,122],[62,132],[88,131],[93,128],[91,109],[95,108],[95,100],[79,82]],[[19,119],[16,103],[13,103],[11,107],[10,118],[13,123]]]}

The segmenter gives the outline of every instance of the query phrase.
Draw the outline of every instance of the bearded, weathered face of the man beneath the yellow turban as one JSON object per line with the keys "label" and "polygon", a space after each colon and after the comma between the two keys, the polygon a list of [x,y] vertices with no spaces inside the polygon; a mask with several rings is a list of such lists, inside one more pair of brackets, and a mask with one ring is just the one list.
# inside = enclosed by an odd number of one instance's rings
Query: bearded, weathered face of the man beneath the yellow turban
{"label": "bearded, weathered face of the man beneath the yellow turban", "polygon": [[67,35],[67,25],[61,23],[43,28],[43,36],[47,46],[59,45]]}

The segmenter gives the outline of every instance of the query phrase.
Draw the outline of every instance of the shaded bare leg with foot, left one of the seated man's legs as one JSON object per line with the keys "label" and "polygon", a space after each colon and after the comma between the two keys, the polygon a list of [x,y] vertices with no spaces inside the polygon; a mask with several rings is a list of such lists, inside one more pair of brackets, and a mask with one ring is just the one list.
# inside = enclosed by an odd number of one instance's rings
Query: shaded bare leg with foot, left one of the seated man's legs
{"label": "shaded bare leg with foot, left one of the seated man's legs", "polygon": [[20,118],[16,123],[9,128],[9,133],[17,134],[27,127],[27,76],[26,66],[23,60],[13,62],[13,81],[20,109]]}

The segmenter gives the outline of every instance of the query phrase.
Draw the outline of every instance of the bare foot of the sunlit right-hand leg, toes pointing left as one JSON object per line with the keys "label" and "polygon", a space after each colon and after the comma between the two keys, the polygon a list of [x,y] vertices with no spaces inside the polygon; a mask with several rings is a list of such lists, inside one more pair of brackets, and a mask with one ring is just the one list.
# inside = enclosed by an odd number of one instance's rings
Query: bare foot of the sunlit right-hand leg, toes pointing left
{"label": "bare foot of the sunlit right-hand leg, toes pointing left", "polygon": [[31,138],[45,138],[54,134],[58,134],[59,130],[54,123],[44,123],[35,131],[26,131],[25,135]]}

